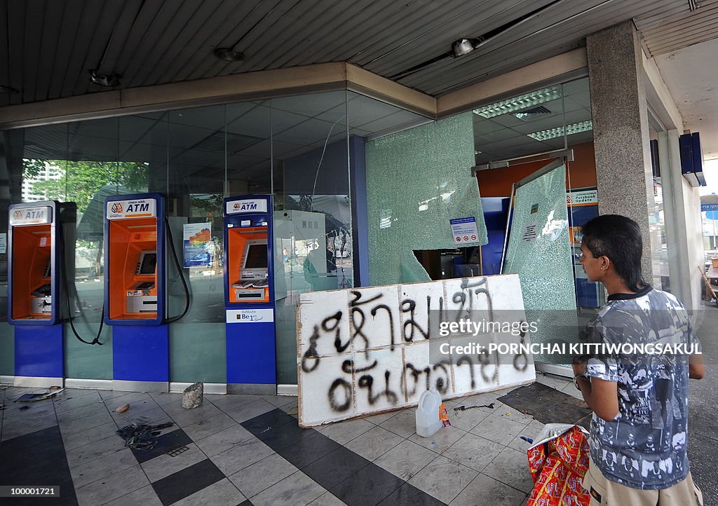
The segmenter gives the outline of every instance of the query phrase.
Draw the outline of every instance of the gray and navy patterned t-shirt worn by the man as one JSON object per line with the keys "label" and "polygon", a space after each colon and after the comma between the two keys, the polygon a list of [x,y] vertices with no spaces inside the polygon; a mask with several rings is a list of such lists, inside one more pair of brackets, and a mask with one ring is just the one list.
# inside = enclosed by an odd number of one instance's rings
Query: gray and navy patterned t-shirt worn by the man
{"label": "gray and navy patterned t-shirt worn by the man", "polygon": [[[700,344],[688,311],[676,297],[650,286],[615,294],[586,328],[592,343]],[[688,356],[591,357],[589,378],[617,383],[618,414],[594,414],[591,458],[612,482],[636,489],[665,489],[689,472]]]}

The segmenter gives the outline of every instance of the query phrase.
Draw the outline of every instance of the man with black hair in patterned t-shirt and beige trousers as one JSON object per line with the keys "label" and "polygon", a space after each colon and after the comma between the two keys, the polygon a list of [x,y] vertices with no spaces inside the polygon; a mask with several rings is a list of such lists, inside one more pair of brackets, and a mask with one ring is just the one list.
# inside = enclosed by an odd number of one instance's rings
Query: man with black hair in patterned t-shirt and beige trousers
{"label": "man with black hair in patterned t-shirt and beige trousers", "polygon": [[[638,225],[603,215],[582,226],[581,264],[608,301],[588,324],[587,342],[700,345],[688,312],[643,281]],[[584,489],[591,505],[702,505],[687,454],[688,378],[703,377],[700,355],[593,355],[574,364],[594,415]]]}

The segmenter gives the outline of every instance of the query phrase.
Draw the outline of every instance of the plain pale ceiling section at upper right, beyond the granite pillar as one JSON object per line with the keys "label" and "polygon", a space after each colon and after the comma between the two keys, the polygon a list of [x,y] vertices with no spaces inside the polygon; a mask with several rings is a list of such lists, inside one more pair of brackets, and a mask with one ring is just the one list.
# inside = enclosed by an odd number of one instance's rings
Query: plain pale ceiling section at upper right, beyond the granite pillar
{"label": "plain pale ceiling section at upper right, beyond the granite pillar", "polygon": [[683,116],[684,129],[701,133],[704,159],[718,159],[718,39],[654,56]]}

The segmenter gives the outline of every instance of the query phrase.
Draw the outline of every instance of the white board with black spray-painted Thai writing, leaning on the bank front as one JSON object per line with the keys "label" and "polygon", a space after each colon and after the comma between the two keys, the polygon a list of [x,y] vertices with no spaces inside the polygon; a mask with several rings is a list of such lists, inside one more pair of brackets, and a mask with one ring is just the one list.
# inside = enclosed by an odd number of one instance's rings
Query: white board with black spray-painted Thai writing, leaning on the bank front
{"label": "white board with black spray-painted Thai writing, leaning on the bank front", "polygon": [[481,311],[525,322],[516,274],[309,292],[297,311],[301,426],[414,406],[427,386],[447,399],[536,380],[531,353],[485,349],[530,346],[528,333],[447,337],[439,324]]}

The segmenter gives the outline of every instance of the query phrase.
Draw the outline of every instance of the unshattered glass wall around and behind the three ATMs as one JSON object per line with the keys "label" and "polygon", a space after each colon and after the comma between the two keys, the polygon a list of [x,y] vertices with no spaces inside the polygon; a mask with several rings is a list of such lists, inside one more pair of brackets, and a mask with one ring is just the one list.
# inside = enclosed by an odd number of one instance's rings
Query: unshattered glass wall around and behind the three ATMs
{"label": "unshattered glass wall around and behind the three ATMs", "polygon": [[[299,294],[355,284],[350,136],[381,135],[422,119],[342,90],[6,131],[0,233],[11,203],[76,202],[72,323],[91,342],[103,314],[103,201],[161,193],[180,262],[185,225],[210,230],[190,267],[177,269],[169,253],[168,317],[187,304],[180,271],[190,293],[187,314],[169,326],[170,381],[225,383],[221,203],[273,194],[278,383],[296,383]],[[14,333],[6,323],[6,269],[0,271],[0,375],[11,376]],[[65,376],[111,379],[112,328],[103,328],[102,345],[90,346],[66,327]]]}

